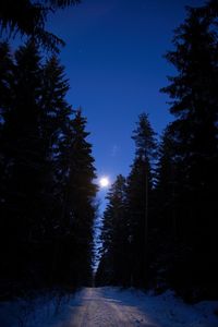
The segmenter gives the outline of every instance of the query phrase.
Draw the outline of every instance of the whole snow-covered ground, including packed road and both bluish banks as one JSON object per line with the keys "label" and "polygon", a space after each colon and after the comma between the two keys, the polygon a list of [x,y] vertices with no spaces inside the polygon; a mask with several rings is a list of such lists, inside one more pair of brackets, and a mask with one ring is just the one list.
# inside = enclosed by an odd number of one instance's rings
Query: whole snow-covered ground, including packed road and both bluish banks
{"label": "whole snow-covered ground, including packed road and both bluish banks", "polygon": [[0,303],[1,327],[218,327],[218,302],[185,304],[172,291],[86,288],[71,296],[41,295]]}

